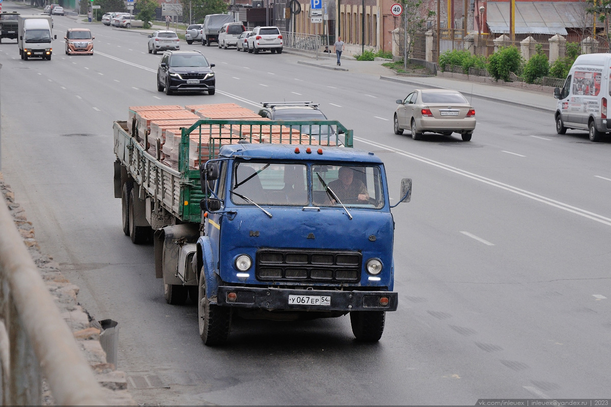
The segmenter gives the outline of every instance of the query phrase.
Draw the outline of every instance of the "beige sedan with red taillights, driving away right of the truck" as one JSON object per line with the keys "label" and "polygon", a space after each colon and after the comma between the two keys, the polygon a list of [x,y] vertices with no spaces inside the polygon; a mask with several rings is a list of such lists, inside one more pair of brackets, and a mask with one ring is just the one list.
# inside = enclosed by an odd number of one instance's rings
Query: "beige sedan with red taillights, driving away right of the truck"
{"label": "beige sedan with red taillights, driving away right of the truck", "polygon": [[448,89],[414,90],[398,99],[393,120],[395,134],[410,129],[412,139],[422,139],[424,132],[443,135],[460,133],[468,142],[475,129],[475,109],[462,93]]}

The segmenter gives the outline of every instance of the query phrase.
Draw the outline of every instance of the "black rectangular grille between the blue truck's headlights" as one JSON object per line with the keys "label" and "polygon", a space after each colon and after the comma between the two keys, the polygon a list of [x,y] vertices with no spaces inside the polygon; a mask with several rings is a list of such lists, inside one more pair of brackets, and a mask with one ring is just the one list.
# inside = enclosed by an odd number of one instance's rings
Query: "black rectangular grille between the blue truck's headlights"
{"label": "black rectangular grille between the blue truck's headlights", "polygon": [[260,281],[358,281],[362,255],[358,251],[271,250],[257,251],[255,275]]}

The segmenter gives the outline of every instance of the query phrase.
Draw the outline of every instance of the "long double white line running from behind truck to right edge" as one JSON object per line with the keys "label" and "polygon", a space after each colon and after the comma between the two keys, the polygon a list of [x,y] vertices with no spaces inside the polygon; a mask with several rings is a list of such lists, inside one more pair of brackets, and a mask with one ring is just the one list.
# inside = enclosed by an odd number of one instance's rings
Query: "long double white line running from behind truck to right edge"
{"label": "long double white line running from behind truck to right edge", "polygon": [[553,206],[558,209],[562,209],[563,211],[566,211],[566,212],[571,212],[571,214],[575,214],[575,215],[582,216],[584,218],[588,218],[595,222],[602,223],[603,225],[611,226],[611,218],[607,218],[603,215],[595,214],[594,212],[586,211],[585,209],[581,209],[576,206],[572,206],[572,205],[569,205],[569,204],[566,204],[560,201],[552,200],[552,198],[547,198],[546,196],[538,195],[534,192],[530,192],[530,191],[527,191],[527,190],[524,190],[518,187],[514,187],[513,185],[504,184],[503,182],[495,181],[494,179],[490,179],[490,178],[486,178],[481,175],[470,173],[469,171],[461,170],[461,168],[456,168],[456,167],[452,167],[451,165],[442,164],[441,162],[431,160],[426,157],[418,156],[416,154],[408,153],[407,151],[403,151],[398,148],[393,148],[385,144],[372,142],[367,139],[361,139],[360,137],[354,137],[353,139],[361,143],[365,143],[368,145],[376,146],[378,148],[386,149],[388,151],[392,151],[393,153],[397,153],[404,157],[409,157],[411,159],[423,162],[425,164],[433,165],[434,167],[441,168],[442,170],[450,171],[455,174],[462,175],[470,179],[474,179],[475,181],[483,182],[484,184],[492,185],[493,187],[504,189],[508,192],[524,196],[525,198],[529,198],[533,201],[541,202],[546,205]]}

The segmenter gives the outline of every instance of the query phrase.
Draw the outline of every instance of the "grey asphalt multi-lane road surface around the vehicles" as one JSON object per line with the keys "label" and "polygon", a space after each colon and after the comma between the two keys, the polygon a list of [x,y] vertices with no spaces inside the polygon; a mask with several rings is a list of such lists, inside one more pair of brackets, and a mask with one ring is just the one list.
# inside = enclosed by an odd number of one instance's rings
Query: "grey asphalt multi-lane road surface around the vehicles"
{"label": "grey asphalt multi-lane road surface around the vehicles", "polygon": [[[1,170],[84,308],[119,322],[119,369],[169,386],[132,389],[139,403],[611,398],[609,140],[557,135],[547,113],[473,98],[471,142],[415,142],[392,131],[395,99],[412,85],[197,43],[181,47],[216,63],[216,95],[166,96],[145,35],[87,25],[96,54],[68,57],[61,38],[74,26],[54,17],[51,61],[0,44]],[[315,101],[354,129],[355,146],[384,160],[395,199],[400,179],[414,179],[411,203],[393,209],[400,303],[379,344],[354,342],[346,316],[238,321],[229,345],[205,347],[196,308],[164,302],[152,246],[123,235],[112,121],[128,106],[280,100]]]}

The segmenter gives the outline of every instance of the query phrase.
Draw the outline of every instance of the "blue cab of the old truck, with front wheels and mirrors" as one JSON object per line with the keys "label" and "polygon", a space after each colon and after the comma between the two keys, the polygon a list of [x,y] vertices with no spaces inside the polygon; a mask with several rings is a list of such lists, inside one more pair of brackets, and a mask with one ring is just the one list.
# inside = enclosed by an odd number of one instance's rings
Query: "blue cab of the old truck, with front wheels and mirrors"
{"label": "blue cab of the old truck, with front wheels and mirrors", "polygon": [[[202,173],[211,198],[202,201],[194,268],[205,344],[227,339],[232,313],[275,320],[349,313],[358,340],[380,339],[398,297],[379,157],[343,147],[241,143],[223,146]],[[403,182],[409,201],[411,180]]]}

